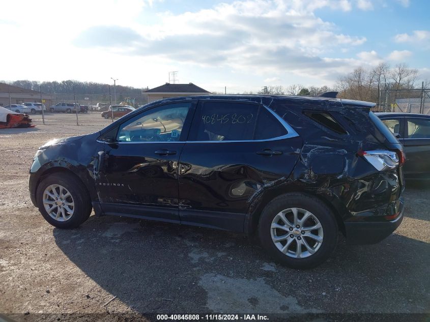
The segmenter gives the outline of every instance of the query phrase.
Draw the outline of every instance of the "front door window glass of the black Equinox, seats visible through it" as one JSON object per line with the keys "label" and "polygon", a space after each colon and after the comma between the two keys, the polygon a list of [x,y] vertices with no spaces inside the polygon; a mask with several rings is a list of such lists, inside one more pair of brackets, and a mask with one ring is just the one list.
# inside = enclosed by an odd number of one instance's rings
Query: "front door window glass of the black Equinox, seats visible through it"
{"label": "front door window glass of the black Equinox, seats visible through it", "polygon": [[180,141],[190,102],[151,108],[123,123],[118,131],[119,142]]}

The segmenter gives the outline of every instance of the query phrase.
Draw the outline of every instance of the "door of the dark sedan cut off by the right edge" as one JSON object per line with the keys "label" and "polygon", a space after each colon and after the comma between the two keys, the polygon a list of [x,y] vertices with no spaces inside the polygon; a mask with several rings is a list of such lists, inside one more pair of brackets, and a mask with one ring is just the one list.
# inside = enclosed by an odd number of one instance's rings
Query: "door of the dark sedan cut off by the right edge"
{"label": "door of the dark sedan cut off by the right edge", "polygon": [[430,118],[405,117],[405,175],[410,179],[430,178]]}

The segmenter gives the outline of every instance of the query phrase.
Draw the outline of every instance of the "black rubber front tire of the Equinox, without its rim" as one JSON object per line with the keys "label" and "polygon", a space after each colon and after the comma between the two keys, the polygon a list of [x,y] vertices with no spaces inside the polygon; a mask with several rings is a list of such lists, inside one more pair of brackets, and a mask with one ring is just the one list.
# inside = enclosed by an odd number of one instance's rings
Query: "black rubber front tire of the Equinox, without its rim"
{"label": "black rubber front tire of the Equinox, without its rim", "polygon": [[[43,193],[50,185],[61,185],[66,188],[74,201],[73,215],[66,221],[58,221],[49,216],[48,212],[43,206]],[[36,192],[36,200],[38,208],[43,218],[52,226],[71,229],[78,227],[81,223],[90,217],[92,204],[87,189],[82,182],[77,179],[73,174],[69,173],[54,173],[48,175],[39,184]]]}

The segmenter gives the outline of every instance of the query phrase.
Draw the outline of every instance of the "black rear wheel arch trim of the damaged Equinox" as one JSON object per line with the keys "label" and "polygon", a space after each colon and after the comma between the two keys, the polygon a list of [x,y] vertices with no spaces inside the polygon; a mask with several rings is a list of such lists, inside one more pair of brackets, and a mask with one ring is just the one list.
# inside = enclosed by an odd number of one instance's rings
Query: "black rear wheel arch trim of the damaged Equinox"
{"label": "black rear wheel arch trim of the damaged Equinox", "polygon": [[272,201],[273,199],[275,199],[276,197],[282,194],[294,193],[294,192],[316,197],[320,201],[324,202],[327,208],[329,208],[333,212],[336,218],[336,222],[339,230],[345,235],[345,223],[343,223],[342,214],[339,211],[339,209],[337,209],[333,204],[333,200],[335,200],[336,197],[326,195],[326,194],[315,193],[313,191],[309,191],[307,189],[297,187],[297,186],[295,187],[281,186],[281,187],[269,189],[265,191],[263,194],[261,194],[259,198],[255,199],[255,201],[250,207],[250,211],[248,212],[245,218],[245,229],[244,229],[245,232],[248,233],[248,235],[253,235],[253,233],[256,231],[259,225],[261,213],[263,212],[263,209],[267,206],[267,204],[270,201]]}

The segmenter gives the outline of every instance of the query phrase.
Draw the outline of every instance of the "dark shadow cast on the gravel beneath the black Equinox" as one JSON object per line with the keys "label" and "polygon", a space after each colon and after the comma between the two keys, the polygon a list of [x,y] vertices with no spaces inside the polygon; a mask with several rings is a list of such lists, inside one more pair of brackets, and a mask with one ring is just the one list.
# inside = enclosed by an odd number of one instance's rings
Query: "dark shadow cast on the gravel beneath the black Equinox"
{"label": "dark shadow cast on the gravel beneath the black Equinox", "polygon": [[53,235],[80,270],[140,313],[429,309],[430,245],[395,234],[369,246],[340,239],[307,271],[274,263],[255,238],[199,227],[92,216]]}

